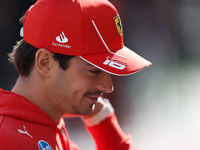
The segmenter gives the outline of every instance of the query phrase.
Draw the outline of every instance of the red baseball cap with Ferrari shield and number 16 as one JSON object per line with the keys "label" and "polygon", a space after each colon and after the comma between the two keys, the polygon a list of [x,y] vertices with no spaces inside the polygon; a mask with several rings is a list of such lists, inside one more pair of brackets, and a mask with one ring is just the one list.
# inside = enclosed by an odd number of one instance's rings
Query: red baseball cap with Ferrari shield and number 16
{"label": "red baseball cap with Ferrari shield and number 16", "polygon": [[120,16],[107,0],[38,0],[26,12],[23,37],[32,46],[79,56],[114,75],[151,65],[124,46]]}

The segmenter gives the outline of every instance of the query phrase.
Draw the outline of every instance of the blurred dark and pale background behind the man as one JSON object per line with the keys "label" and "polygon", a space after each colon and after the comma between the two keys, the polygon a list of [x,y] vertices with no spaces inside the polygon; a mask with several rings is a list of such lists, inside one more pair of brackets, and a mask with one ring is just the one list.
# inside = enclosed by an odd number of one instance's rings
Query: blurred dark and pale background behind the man
{"label": "blurred dark and pale background behind the man", "polygon": [[[200,1],[110,0],[121,16],[124,43],[152,62],[137,74],[113,77],[108,97],[119,124],[140,150],[200,149]],[[20,40],[19,18],[35,0],[0,0],[0,87],[17,72],[7,53]],[[95,144],[79,118],[65,119],[82,150]]]}

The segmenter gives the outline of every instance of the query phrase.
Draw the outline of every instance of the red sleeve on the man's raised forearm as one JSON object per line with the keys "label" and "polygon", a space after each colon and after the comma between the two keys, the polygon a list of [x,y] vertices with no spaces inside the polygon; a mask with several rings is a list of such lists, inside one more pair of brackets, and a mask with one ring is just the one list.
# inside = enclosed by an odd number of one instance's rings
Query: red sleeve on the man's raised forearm
{"label": "red sleeve on the man's raised forearm", "polygon": [[114,112],[100,124],[87,129],[95,139],[98,150],[137,150],[131,135],[121,130]]}

